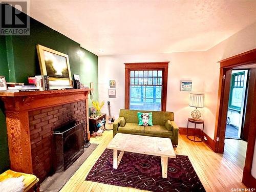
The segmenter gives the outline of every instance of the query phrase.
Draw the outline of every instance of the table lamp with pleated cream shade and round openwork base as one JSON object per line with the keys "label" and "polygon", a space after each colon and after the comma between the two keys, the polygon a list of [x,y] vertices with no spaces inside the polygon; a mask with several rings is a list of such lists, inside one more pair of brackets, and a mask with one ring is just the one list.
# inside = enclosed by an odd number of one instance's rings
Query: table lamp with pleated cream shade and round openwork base
{"label": "table lamp with pleated cream shade and round openwork base", "polygon": [[193,112],[191,112],[191,117],[194,120],[199,120],[202,114],[197,108],[204,107],[204,93],[190,93],[189,106],[196,108]]}

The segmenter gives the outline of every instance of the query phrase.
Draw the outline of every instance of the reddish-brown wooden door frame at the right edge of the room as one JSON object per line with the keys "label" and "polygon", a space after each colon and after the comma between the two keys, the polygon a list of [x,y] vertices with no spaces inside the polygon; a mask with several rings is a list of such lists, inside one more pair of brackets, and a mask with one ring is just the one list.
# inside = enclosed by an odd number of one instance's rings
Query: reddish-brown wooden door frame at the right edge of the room
{"label": "reddish-brown wooden door frame at the right edge of the room", "polygon": [[[228,111],[228,98],[230,90],[230,77],[231,70],[234,68],[245,67],[256,62],[256,49],[241,53],[239,55],[223,59],[220,62],[220,78],[219,78],[219,91],[218,91],[218,104],[217,104],[217,114],[216,114],[216,123],[215,123],[215,140],[216,148],[215,152],[224,153],[224,140],[225,140],[225,131],[226,131],[226,120],[227,120],[227,111]],[[255,80],[254,80],[255,81]],[[248,99],[253,101],[253,108],[256,108],[256,83],[251,83],[248,88],[251,90],[250,96]],[[250,97],[250,98],[249,98]],[[247,100],[249,102],[249,100]],[[252,109],[253,109],[252,108]],[[256,188],[256,179],[251,176],[251,167],[252,167],[252,158],[254,153],[254,145],[256,138],[256,130],[253,129],[256,127],[254,119],[256,119],[256,112],[252,110],[250,114],[250,126],[249,126],[249,137],[247,143],[246,159],[243,172],[243,183],[251,188]]]}

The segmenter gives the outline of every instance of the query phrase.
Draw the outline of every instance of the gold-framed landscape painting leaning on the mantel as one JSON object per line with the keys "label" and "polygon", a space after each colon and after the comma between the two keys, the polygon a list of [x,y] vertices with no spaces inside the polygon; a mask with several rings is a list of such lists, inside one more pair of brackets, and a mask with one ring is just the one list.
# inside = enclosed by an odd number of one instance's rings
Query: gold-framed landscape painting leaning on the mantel
{"label": "gold-framed landscape painting leaning on the mantel", "polygon": [[41,45],[36,50],[41,75],[49,76],[50,90],[73,88],[69,56]]}

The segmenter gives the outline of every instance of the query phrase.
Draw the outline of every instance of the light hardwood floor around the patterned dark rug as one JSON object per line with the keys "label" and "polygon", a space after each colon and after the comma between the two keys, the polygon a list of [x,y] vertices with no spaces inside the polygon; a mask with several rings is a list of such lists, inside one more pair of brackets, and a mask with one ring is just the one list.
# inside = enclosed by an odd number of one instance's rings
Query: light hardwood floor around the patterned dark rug
{"label": "light hardwood floor around the patterned dark rug", "polygon": [[[61,191],[145,191],[84,180],[112,138],[113,131],[105,131],[102,136],[91,138],[91,143],[99,145]],[[175,153],[189,157],[206,191],[245,188],[241,181],[247,143],[242,140],[226,139],[225,144],[225,153],[216,154],[205,143],[196,143],[188,140],[185,135],[180,135]]]}

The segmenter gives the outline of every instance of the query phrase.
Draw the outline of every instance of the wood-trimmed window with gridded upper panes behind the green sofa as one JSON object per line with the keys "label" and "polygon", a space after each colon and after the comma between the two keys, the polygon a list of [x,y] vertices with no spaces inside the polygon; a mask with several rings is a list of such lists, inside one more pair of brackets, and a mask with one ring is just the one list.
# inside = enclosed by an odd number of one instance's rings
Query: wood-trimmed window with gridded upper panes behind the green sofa
{"label": "wood-trimmed window with gridded upper panes behind the green sofa", "polygon": [[125,64],[125,109],[166,110],[168,62]]}

